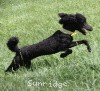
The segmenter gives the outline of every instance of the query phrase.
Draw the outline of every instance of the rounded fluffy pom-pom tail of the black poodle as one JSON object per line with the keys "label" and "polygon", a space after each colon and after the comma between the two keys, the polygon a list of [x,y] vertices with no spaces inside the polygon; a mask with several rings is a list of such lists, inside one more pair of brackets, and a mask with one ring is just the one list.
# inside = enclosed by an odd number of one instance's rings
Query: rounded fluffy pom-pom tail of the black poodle
{"label": "rounded fluffy pom-pom tail of the black poodle", "polygon": [[7,42],[7,46],[12,52],[18,52],[18,42],[19,39],[17,37],[11,37]]}

